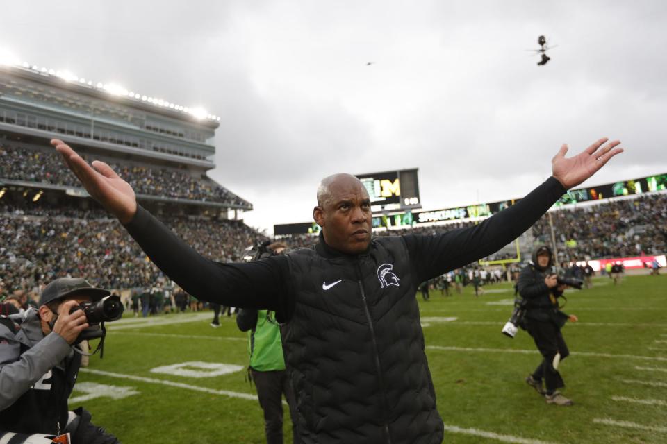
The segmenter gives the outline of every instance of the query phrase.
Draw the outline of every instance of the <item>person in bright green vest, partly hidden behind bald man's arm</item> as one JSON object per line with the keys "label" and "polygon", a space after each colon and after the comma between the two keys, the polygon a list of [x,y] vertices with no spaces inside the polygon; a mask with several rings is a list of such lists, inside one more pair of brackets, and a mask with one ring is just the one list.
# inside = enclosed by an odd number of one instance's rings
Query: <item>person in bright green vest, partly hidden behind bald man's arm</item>
{"label": "person in bright green vest, partly hidden behind bald man's arm", "polygon": [[[259,246],[253,261],[286,252],[287,246],[282,242],[267,244],[265,242]],[[248,332],[248,375],[251,381],[255,382],[257,398],[264,412],[267,444],[283,443],[283,393],[293,421],[293,443],[299,443],[294,422],[294,395],[285,370],[280,325],[275,318],[275,311],[272,310],[240,309],[236,316],[236,325],[242,332]]]}

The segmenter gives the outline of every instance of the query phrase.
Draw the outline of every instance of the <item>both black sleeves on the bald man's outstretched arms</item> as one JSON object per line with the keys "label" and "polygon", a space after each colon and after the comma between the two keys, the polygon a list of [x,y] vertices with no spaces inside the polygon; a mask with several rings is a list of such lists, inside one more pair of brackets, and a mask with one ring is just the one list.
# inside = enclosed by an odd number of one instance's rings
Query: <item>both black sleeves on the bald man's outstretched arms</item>
{"label": "both black sleeves on the bald man's outstretched arms", "polygon": [[[434,278],[500,250],[530,228],[565,191],[551,177],[516,205],[479,225],[431,236],[404,236],[415,282]],[[211,261],[142,207],[137,207],[126,229],[154,264],[192,296],[233,307],[272,309],[281,321],[293,313],[295,300],[290,292],[288,257],[278,255],[233,264]],[[324,242],[323,237],[320,242]]]}

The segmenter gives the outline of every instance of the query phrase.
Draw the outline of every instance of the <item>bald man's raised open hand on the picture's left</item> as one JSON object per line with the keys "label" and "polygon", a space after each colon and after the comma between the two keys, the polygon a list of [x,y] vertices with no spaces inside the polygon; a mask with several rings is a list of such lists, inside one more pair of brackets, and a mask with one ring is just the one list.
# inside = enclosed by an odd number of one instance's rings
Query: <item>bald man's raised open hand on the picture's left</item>
{"label": "bald man's raised open hand on the picture's left", "polygon": [[116,216],[121,223],[126,224],[132,220],[137,212],[137,199],[129,183],[122,180],[104,162],[95,160],[91,167],[62,140],[53,139],[51,145],[63,155],[67,167],[79,178],[92,198]]}

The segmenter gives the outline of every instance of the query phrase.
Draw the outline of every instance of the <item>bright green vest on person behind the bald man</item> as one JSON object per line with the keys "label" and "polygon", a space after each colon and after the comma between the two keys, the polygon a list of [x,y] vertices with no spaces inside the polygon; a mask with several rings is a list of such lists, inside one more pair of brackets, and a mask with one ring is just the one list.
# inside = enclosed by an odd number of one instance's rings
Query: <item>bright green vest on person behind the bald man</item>
{"label": "bright green vest on person behind the bald man", "polygon": [[283,343],[275,316],[274,311],[258,310],[257,324],[248,332],[250,366],[254,370],[285,370]]}

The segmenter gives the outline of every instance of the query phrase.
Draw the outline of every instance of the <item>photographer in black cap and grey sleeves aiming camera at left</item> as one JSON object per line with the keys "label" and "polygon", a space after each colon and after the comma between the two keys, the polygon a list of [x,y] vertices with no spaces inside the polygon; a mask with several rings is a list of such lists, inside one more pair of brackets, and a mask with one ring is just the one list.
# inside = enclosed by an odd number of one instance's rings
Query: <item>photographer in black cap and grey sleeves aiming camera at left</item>
{"label": "photographer in black cap and grey sleeves aiming camera at left", "polygon": [[0,436],[15,434],[13,443],[34,434],[63,443],[119,442],[92,425],[88,411],[67,406],[81,366],[75,345],[104,339],[103,321],[122,314],[109,294],[81,278],[60,278],[44,289],[38,310],[0,317]]}

